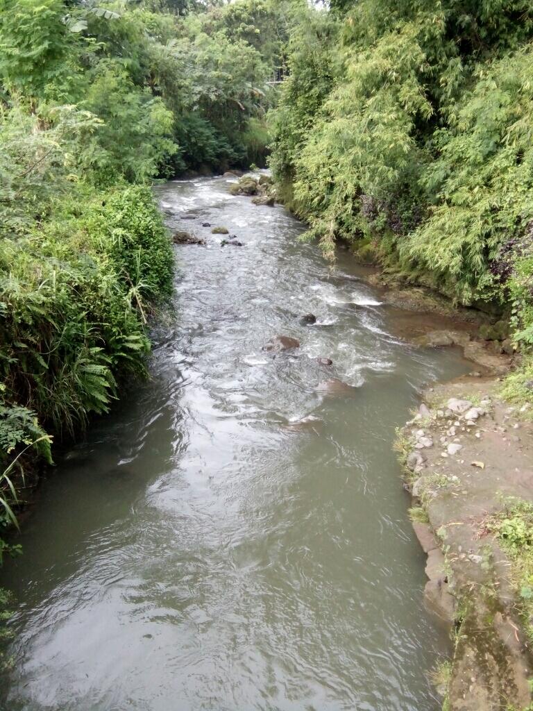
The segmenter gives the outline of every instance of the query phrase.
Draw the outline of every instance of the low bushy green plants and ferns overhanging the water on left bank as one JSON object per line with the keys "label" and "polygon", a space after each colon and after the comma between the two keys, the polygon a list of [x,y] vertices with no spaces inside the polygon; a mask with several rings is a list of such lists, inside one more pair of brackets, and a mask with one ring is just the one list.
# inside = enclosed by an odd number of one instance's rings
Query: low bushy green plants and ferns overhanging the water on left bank
{"label": "low bushy green plants and ferns overhanging the water on left bank", "polygon": [[0,365],[16,401],[72,431],[107,412],[118,373],[144,370],[146,302],[168,293],[172,254],[142,186],[80,192],[50,210],[0,250]]}

